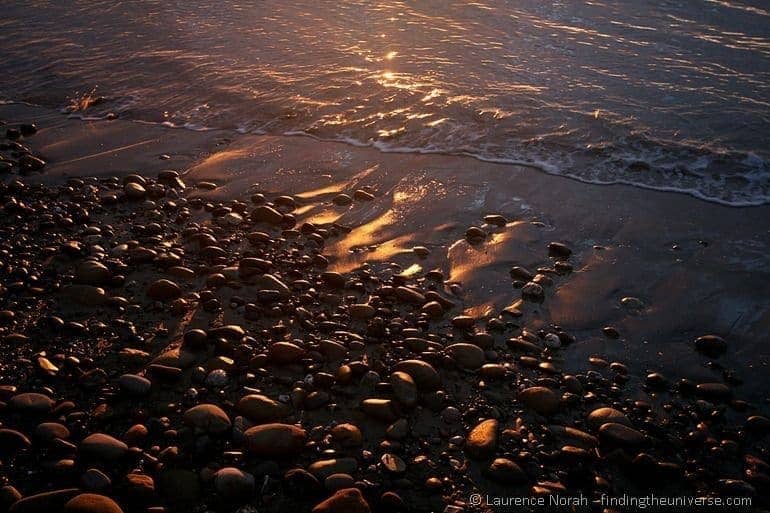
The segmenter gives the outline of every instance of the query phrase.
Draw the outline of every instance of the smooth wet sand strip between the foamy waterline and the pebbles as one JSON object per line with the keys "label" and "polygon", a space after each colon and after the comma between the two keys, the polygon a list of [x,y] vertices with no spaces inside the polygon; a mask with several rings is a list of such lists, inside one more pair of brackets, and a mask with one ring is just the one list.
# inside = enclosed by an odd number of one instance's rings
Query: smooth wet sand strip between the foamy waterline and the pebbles
{"label": "smooth wet sand strip between the foamy waterline and the pebbles", "polygon": [[[760,342],[770,326],[770,309],[761,301],[770,296],[770,206],[728,207],[678,193],[585,184],[471,157],[383,154],[313,138],[190,132],[122,120],[83,122],[41,108],[26,118],[41,112],[55,121],[55,128],[41,130],[35,140],[51,162],[32,179],[55,182],[94,170],[122,176],[177,169],[185,179],[216,183],[215,190],[196,191],[212,200],[245,199],[253,192],[295,195],[302,202],[300,220],[339,221],[354,228],[327,248],[335,270],[389,257],[404,268],[440,268],[450,280],[469,282],[465,299],[476,314],[507,306],[511,266],[537,266],[538,257],[516,243],[518,232],[524,240],[544,234],[527,233],[530,225],[517,224],[517,233],[489,241],[484,251],[494,256],[479,262],[478,251],[462,244],[465,229],[483,223],[487,213],[542,223],[549,237],[575,245],[579,259],[576,279],[557,291],[547,312],[551,322],[577,328],[588,339],[575,361],[590,356],[588,347],[628,358],[641,346],[649,349],[640,368],[658,365],[661,352],[664,363],[683,359],[684,365],[670,369],[684,367],[688,377],[702,377],[688,343],[699,330],[730,334],[740,355],[759,357],[749,364],[738,355],[730,364],[756,376],[752,381],[762,387],[756,399],[770,394],[770,385],[760,379],[770,365]],[[0,117],[3,113],[0,107]],[[162,154],[171,158],[161,160]],[[358,186],[374,187],[379,194],[364,207],[329,202],[335,193]],[[362,250],[368,246],[376,247]],[[418,258],[413,246],[427,246],[431,254]],[[589,304],[576,307],[581,297]],[[627,315],[619,305],[623,297],[642,299],[646,313]],[[693,317],[679,318],[681,310]],[[618,324],[621,332],[627,326],[635,336],[622,350],[608,347],[601,336],[603,322]],[[667,341],[656,341],[661,338]]]}

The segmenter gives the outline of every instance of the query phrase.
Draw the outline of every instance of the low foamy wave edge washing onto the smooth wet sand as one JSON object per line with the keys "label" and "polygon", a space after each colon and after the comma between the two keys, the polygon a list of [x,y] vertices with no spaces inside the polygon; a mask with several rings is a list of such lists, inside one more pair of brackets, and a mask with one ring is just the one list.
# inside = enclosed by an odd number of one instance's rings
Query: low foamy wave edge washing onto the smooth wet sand
{"label": "low foamy wave edge washing onto the smooth wet sand", "polygon": [[[0,105],[26,104],[0,100]],[[66,112],[66,111],[64,111]],[[112,112],[86,114],[69,112],[67,116],[83,121],[114,119]],[[124,117],[124,121],[160,125],[171,129],[206,132],[234,130],[240,134],[310,137],[318,141],[344,143],[374,148],[382,153],[453,155],[494,164],[524,166],[550,175],[562,176],[593,185],[625,185],[647,190],[687,194],[703,201],[730,207],[770,204],[770,163],[754,153],[714,150],[702,146],[659,141],[643,136],[627,137],[611,144],[586,148],[530,146],[517,148],[494,146],[452,148],[426,142],[403,145],[382,139],[359,139],[345,134],[321,136],[304,129],[271,132],[249,123],[232,127],[201,123],[150,121]],[[402,138],[410,137],[405,134]]]}

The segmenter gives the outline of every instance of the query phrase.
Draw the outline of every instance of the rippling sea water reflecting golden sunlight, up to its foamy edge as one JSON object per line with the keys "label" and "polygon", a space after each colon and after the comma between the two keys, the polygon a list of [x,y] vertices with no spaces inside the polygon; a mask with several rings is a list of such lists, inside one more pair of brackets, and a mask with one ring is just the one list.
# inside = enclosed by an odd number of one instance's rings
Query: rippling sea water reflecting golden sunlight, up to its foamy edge
{"label": "rippling sea water reflecting golden sunlight, up to its foamy edge", "polygon": [[761,1],[31,1],[3,11],[6,100],[770,203]]}

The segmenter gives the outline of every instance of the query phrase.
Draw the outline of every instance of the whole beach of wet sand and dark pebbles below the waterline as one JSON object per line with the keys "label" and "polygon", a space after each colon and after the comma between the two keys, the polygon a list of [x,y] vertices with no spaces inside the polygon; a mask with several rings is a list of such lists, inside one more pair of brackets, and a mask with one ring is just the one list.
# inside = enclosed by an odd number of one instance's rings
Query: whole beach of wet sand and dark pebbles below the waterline
{"label": "whole beach of wet sand and dark pebbles below the waterline", "polygon": [[[273,490],[266,511],[476,511],[463,502],[476,491],[607,491],[575,469],[613,492],[658,473],[671,483],[656,486],[676,492],[766,499],[764,467],[748,483],[742,458],[765,453],[770,426],[770,206],[469,157],[62,118],[0,105],[0,119],[37,123],[22,142],[47,162],[3,180],[5,239],[21,245],[3,300],[23,306],[2,328],[23,354],[1,362],[12,372],[0,427],[21,430],[3,435],[19,445],[12,461],[57,475],[27,434],[43,409],[69,426],[73,410],[59,409],[79,400],[89,420],[73,439],[86,461],[139,458],[158,484],[150,493],[121,470],[127,481],[104,490],[162,497],[172,511],[169,479],[197,490],[192,503],[203,489],[251,496],[255,476],[315,489]],[[19,399],[45,387],[53,400]],[[259,399],[243,404],[244,390]],[[159,450],[127,434],[134,422],[155,426]],[[86,442],[102,431],[120,443]],[[708,471],[691,475],[685,454]],[[80,457],[59,460],[62,490],[83,486]],[[248,475],[218,479],[227,458]]]}

